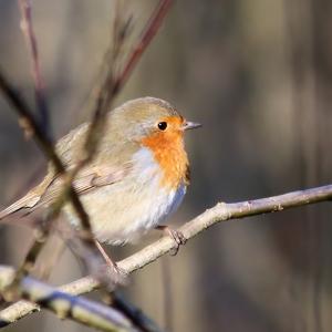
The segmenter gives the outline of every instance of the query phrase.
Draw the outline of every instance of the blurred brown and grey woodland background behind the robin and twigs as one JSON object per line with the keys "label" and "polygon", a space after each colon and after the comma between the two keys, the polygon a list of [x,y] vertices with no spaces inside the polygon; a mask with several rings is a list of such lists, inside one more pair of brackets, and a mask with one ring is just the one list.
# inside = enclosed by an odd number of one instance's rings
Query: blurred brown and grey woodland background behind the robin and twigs
{"label": "blurred brown and grey woodland background behind the robin and twigs", "polygon": [[[137,34],[157,1],[126,1]],[[52,131],[89,118],[91,90],[110,42],[113,1],[34,0]],[[173,217],[180,225],[217,201],[240,201],[331,181],[332,2],[176,1],[121,102],[152,95],[176,105],[193,181]],[[0,65],[33,103],[17,1],[0,1]],[[0,205],[42,178],[45,162],[0,97]],[[125,295],[169,331],[305,332],[332,329],[331,204],[232,220],[131,277]],[[138,246],[116,249],[118,258]],[[0,228],[0,262],[18,266],[31,242]],[[112,251],[114,252],[114,250]],[[52,282],[82,276],[66,252]],[[87,331],[51,313],[7,331]]]}

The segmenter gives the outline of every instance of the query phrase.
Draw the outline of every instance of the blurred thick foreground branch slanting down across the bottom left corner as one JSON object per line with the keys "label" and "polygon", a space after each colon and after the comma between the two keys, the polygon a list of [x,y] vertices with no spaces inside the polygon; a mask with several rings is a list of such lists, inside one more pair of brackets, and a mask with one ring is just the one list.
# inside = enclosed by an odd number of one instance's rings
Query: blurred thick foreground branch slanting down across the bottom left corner
{"label": "blurred thick foreground branch slanting down across the bottom left corner", "polygon": [[[14,276],[13,269],[0,267],[0,290],[6,289]],[[70,295],[33,278],[23,278],[20,290],[24,299],[53,311],[61,319],[71,319],[101,331],[137,331],[120,311]],[[0,313],[0,328],[9,323]]]}

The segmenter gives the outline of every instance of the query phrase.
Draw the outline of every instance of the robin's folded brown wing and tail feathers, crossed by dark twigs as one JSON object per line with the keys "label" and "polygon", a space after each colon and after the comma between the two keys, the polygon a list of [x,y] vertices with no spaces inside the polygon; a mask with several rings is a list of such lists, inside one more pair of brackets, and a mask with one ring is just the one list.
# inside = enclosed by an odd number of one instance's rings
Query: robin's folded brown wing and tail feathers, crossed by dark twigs
{"label": "robin's folded brown wing and tail feathers, crossed by dark twigs", "polygon": [[[129,172],[131,164],[123,167],[86,167],[82,169],[73,181],[76,193],[84,195],[102,186],[110,186],[121,181]],[[18,211],[24,210],[30,214],[38,208],[50,205],[62,191],[62,179],[60,177],[46,176],[44,180],[30,190],[24,197],[0,211],[0,220]]]}

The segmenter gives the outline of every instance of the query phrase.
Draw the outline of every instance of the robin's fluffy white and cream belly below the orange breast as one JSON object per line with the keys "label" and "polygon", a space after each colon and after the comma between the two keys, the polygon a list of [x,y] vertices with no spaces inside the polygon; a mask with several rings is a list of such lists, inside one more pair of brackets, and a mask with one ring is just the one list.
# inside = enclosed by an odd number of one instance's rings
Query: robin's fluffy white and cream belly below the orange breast
{"label": "robin's fluffy white and cream belly below the orange breast", "polygon": [[[135,241],[175,211],[186,194],[184,184],[175,190],[160,187],[163,174],[147,148],[134,155],[134,165],[124,180],[82,196],[93,232],[101,242]],[[76,224],[73,214],[69,215]]]}

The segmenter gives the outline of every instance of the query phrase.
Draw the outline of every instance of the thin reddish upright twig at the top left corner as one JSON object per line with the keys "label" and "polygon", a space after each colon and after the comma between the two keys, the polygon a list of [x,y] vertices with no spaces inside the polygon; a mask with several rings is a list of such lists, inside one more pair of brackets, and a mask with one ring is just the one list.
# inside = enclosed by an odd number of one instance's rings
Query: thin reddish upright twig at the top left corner
{"label": "thin reddish upright twig at the top left corner", "polygon": [[25,37],[27,44],[31,54],[31,73],[34,83],[34,96],[40,115],[40,124],[43,128],[44,135],[50,135],[50,114],[44,95],[44,84],[41,75],[37,39],[32,27],[31,0],[19,0],[19,4],[22,14],[21,29]]}

